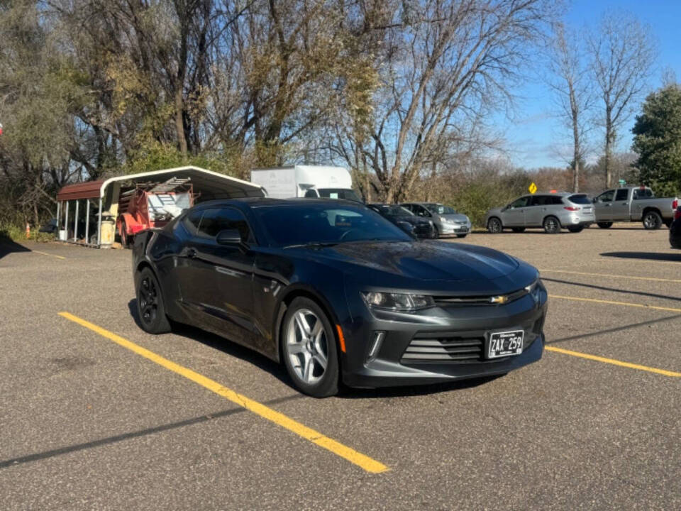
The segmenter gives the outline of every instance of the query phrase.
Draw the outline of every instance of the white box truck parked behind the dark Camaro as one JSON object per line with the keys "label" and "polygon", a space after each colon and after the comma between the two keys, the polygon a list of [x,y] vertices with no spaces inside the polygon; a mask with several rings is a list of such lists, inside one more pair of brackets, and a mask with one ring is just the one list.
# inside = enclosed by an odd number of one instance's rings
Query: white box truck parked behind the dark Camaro
{"label": "white box truck parked behind the dark Camaro", "polygon": [[293,165],[253,169],[250,180],[265,188],[267,197],[274,199],[328,197],[361,202],[353,190],[350,172],[343,167]]}

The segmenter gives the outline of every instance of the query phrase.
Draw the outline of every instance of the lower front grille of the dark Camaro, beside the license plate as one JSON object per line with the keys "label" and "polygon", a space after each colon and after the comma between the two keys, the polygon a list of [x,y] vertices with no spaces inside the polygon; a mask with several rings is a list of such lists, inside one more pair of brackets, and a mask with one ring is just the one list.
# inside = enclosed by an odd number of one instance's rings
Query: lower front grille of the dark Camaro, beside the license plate
{"label": "lower front grille of the dark Camaro, beside the license plate", "polygon": [[402,353],[402,362],[453,362],[466,363],[482,360],[485,337],[477,335],[416,334]]}

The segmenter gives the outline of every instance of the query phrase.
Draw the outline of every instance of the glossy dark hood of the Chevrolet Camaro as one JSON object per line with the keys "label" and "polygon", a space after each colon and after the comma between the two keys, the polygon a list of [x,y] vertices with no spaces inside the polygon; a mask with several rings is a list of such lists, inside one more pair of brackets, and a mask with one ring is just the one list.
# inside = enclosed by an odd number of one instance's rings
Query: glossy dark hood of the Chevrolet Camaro
{"label": "glossy dark hood of the Chevrolet Camaro", "polygon": [[460,243],[358,242],[306,250],[314,250],[318,262],[376,287],[497,292],[517,290],[536,275],[525,263],[521,275],[516,275],[521,263],[509,255]]}

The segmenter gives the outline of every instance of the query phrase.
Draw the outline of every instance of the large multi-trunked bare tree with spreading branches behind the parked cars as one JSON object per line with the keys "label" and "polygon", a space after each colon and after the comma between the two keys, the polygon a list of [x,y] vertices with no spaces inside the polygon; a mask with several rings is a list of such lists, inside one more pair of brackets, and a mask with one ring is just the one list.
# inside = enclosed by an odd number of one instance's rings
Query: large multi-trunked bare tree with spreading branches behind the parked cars
{"label": "large multi-trunked bare tree with spreading branches behind the parked cars", "polygon": [[[484,147],[477,123],[511,100],[509,85],[553,16],[545,0],[419,0],[388,6],[372,126],[354,141],[388,202],[433,172],[452,143]],[[351,135],[352,133],[350,133]],[[343,133],[346,136],[347,133]],[[341,145],[348,145],[347,139]],[[357,158],[357,148],[361,157]],[[343,152],[342,150],[339,152]]]}

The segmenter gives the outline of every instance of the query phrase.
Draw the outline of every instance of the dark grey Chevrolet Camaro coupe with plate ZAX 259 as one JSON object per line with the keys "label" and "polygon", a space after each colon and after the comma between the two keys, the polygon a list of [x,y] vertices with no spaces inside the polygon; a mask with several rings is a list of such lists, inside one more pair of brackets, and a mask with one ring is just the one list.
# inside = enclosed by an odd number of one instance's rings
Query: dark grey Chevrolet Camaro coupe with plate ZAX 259
{"label": "dark grey Chevrolet Camaro coupe with plate ZAX 259", "polygon": [[489,248],[417,241],[343,200],[205,202],[135,238],[140,324],[194,324],[281,361],[294,384],[500,375],[543,352],[546,290]]}

